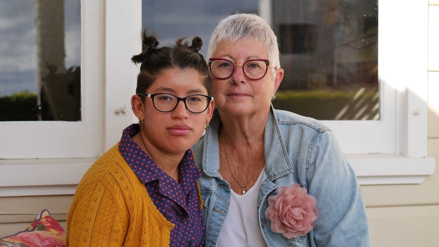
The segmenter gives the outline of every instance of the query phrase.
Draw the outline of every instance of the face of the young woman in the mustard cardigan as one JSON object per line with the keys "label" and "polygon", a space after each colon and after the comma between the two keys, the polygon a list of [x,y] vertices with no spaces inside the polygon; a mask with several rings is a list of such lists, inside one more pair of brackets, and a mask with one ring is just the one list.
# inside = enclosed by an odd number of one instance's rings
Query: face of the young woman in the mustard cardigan
{"label": "face of the young woman in the mustard cardigan", "polygon": [[[194,69],[167,69],[146,93],[169,93],[180,98],[193,94],[208,96],[200,74]],[[160,100],[163,102],[169,99],[156,96],[156,106],[159,106]],[[196,101],[197,98],[188,99],[187,104]],[[142,128],[148,142],[163,153],[177,154],[185,152],[200,139],[206,123],[212,118],[213,101],[209,102],[209,107],[202,113],[189,112],[183,100],[178,102],[173,111],[163,113],[154,107],[152,98],[145,97],[143,109],[145,118]]]}

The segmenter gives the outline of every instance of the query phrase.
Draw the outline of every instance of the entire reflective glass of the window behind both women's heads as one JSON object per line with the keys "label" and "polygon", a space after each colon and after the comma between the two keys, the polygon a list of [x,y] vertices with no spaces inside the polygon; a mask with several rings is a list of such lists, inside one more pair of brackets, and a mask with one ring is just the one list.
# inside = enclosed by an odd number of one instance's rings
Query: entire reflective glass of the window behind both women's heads
{"label": "entire reflective glass of the window behind both women's heads", "polygon": [[162,45],[200,36],[205,56],[218,21],[235,13],[260,15],[279,38],[285,74],[275,108],[321,120],[379,119],[376,0],[144,0],[142,26]]}

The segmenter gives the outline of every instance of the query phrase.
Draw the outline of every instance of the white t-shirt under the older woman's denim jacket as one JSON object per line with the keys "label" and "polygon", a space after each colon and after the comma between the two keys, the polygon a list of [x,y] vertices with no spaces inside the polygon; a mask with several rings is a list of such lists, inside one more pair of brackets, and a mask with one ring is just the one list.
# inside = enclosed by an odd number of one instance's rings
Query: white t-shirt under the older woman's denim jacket
{"label": "white t-shirt under the older woman's denim jacket", "polygon": [[223,228],[219,232],[216,246],[267,247],[259,228],[257,211],[258,194],[263,174],[264,169],[259,174],[255,185],[244,195],[238,195],[230,190],[230,206],[224,219]]}

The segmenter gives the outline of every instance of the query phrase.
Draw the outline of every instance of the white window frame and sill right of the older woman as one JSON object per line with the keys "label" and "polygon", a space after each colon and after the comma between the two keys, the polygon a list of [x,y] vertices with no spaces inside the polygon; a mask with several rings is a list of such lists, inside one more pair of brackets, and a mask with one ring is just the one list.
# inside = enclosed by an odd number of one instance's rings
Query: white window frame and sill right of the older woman
{"label": "white window frame and sill right of the older woman", "polygon": [[381,120],[326,123],[360,184],[422,183],[435,169],[427,157],[428,0],[378,5]]}

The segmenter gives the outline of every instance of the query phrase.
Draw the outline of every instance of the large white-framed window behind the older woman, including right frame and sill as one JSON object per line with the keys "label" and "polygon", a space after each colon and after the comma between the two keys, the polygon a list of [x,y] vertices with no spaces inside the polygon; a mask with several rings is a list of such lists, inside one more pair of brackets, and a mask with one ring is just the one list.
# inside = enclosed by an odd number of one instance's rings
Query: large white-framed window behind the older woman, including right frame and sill
{"label": "large white-framed window behind the older woman, including right frame and sill", "polygon": [[[397,6],[389,1],[143,1],[142,25],[166,44],[196,35],[206,44],[227,15],[262,16],[280,39],[285,69],[275,107],[330,126],[362,184],[419,183],[434,171],[434,159],[425,158],[427,50],[419,49],[427,40],[424,6],[416,1]],[[416,28],[407,35],[409,27]],[[293,97],[284,100],[288,94]]]}

